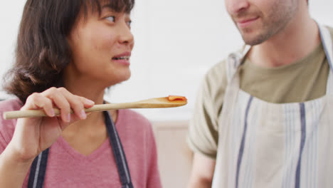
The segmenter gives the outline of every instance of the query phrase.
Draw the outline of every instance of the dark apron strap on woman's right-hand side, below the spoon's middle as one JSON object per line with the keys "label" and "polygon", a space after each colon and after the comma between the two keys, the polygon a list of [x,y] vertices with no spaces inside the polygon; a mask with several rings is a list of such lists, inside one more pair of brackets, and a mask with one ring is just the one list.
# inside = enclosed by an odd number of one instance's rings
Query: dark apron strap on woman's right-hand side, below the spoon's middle
{"label": "dark apron strap on woman's right-hand side, below the spoon's middle", "polygon": [[108,111],[103,112],[105,115],[105,124],[107,125],[107,134],[110,137],[110,144],[112,146],[113,155],[117,164],[117,169],[122,182],[122,188],[132,188],[132,180],[129,174],[129,168],[125,156],[120,137],[118,135],[115,123],[112,121],[111,115]]}

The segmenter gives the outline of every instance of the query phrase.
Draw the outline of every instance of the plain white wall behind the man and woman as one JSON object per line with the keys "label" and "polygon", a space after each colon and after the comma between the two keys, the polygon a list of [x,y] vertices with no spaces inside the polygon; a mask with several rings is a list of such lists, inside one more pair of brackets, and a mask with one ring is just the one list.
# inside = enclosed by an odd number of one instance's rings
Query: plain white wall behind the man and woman
{"label": "plain white wall behind the man and woman", "polygon": [[[13,61],[24,3],[6,1],[0,6],[0,74]],[[312,16],[330,26],[332,7],[332,0],[310,0]],[[151,120],[189,119],[204,73],[242,45],[223,0],[140,0],[132,20],[136,42],[131,58],[132,78],[115,86],[108,98],[120,103],[185,95],[189,104],[184,107],[138,111]],[[4,97],[0,93],[0,98]]]}

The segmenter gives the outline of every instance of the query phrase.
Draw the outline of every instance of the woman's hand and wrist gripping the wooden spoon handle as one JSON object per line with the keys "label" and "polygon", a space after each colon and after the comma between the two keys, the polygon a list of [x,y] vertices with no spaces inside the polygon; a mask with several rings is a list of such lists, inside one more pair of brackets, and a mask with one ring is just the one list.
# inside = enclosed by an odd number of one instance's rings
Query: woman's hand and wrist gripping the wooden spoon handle
{"label": "woman's hand and wrist gripping the wooden spoon handle", "polygon": [[[43,93],[33,93],[21,110],[42,109],[48,117],[18,119],[13,139],[9,143],[11,152],[22,162],[33,160],[56,142],[71,122],[84,120],[87,117],[84,108],[93,105],[92,100],[73,95],[65,88],[50,88]],[[55,116],[53,108],[60,109],[59,116]],[[73,114],[70,114],[70,109],[73,109]]]}

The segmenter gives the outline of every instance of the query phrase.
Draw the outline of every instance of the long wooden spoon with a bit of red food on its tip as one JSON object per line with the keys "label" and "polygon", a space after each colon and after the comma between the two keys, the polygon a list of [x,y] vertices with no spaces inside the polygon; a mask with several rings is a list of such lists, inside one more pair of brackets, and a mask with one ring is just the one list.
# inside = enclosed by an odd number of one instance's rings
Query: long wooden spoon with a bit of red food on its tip
{"label": "long wooden spoon with a bit of red food on its tip", "polygon": [[[92,108],[86,108],[86,113],[117,110],[125,108],[173,108],[186,105],[186,100],[168,100],[168,98],[149,98],[147,100],[140,100],[132,103],[113,103],[105,105],[93,105]],[[60,110],[54,108],[56,115],[60,115]],[[73,113],[73,110],[71,110]],[[43,117],[47,116],[44,110],[17,110],[4,113],[4,120],[11,120],[22,117]]]}

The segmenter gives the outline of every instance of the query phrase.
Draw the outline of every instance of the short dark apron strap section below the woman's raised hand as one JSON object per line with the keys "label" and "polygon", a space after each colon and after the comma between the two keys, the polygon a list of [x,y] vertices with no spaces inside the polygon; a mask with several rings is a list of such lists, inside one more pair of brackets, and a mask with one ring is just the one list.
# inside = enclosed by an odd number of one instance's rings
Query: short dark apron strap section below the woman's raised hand
{"label": "short dark apron strap section below the woman's raised hand", "polygon": [[49,149],[44,150],[33,160],[28,179],[28,188],[43,187],[46,165],[48,163],[48,151]]}

